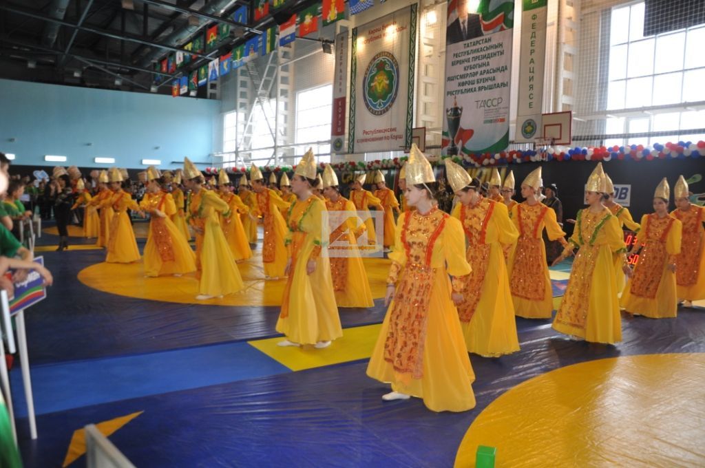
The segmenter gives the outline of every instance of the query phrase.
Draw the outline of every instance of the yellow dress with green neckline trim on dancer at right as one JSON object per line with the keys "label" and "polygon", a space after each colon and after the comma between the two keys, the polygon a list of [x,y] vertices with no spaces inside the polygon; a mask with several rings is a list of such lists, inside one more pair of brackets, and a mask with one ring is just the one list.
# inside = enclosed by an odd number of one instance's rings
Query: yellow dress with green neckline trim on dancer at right
{"label": "yellow dress with green neckline trim on dancer at right", "polygon": [[622,228],[609,209],[582,209],[575,218],[570,244],[578,251],[553,328],[591,343],[618,343],[622,322],[613,256],[621,260],[627,250]]}

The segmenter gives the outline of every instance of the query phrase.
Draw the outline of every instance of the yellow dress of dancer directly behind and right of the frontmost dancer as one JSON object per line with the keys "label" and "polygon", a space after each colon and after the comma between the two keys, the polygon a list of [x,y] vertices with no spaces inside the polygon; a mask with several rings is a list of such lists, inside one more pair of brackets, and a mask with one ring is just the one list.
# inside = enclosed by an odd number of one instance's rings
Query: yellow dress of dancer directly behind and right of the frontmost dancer
{"label": "yellow dress of dancer directly behind and right of the frontmost dancer", "polygon": [[465,230],[466,257],[472,267],[458,306],[467,350],[484,357],[516,352],[519,339],[502,246],[516,242],[517,228],[503,203],[484,197],[474,207],[456,204],[453,217]]}

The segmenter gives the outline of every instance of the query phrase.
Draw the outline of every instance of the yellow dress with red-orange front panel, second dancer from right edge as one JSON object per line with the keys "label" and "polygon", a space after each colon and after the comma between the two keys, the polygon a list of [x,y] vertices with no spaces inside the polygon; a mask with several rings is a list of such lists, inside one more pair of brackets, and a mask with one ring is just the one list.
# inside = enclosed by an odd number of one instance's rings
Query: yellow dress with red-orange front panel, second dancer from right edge
{"label": "yellow dress with red-orange front panel, second dancer from right edge", "polygon": [[675,273],[668,265],[680,253],[682,224],[673,216],[642,216],[639,236],[644,245],[634,274],[622,293],[620,304],[627,312],[651,319],[673,318],[678,314]]}

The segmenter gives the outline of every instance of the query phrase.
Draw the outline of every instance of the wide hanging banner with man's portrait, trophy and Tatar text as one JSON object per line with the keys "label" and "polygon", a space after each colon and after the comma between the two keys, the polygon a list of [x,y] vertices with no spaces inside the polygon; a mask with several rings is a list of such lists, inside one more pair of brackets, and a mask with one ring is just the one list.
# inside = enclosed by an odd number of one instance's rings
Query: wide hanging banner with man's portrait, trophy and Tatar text
{"label": "wide hanging banner with man's portrait, trophy and Tatar text", "polygon": [[509,144],[514,0],[448,1],[443,154],[501,152]]}

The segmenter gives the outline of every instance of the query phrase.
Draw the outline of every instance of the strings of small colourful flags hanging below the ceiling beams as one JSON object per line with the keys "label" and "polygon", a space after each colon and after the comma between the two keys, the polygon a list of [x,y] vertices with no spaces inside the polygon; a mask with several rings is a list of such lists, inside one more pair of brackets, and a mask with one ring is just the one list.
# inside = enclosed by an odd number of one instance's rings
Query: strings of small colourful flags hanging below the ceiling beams
{"label": "strings of small colourful flags hanging below the ceiling beams", "polygon": [[[269,4],[274,10],[280,8],[285,0],[254,0],[253,8],[255,8],[255,21],[261,20],[269,14]],[[384,0],[380,0],[384,3]],[[374,6],[374,0],[348,0],[350,13],[357,14]],[[190,73],[173,80],[171,85],[171,95],[176,97],[181,94],[187,94],[189,91],[197,90],[198,87],[204,86],[209,81],[217,80],[219,77],[227,75],[231,70],[235,70],[245,65],[245,63],[254,60],[259,56],[266,56],[276,49],[276,32],[278,28],[280,47],[293,42],[296,38],[297,25],[299,37],[305,37],[319,30],[319,16],[321,16],[324,26],[335,23],[338,20],[345,18],[345,3],[344,0],[323,0],[322,4],[314,4],[301,11],[298,14],[293,14],[291,18],[286,20],[280,26],[272,26],[264,31],[264,34],[257,35],[247,39],[245,44],[240,44],[233,51],[228,52],[219,58],[215,58],[207,65],[201,66]],[[247,24],[248,11],[247,6],[238,8],[232,16],[235,23]],[[216,49],[217,44],[229,37],[230,25],[218,24],[207,28],[205,51]],[[183,49],[202,53],[203,42],[202,37],[197,37],[185,44]],[[190,61],[195,60],[197,56],[178,51],[170,54],[159,63],[155,64],[161,73],[176,73],[178,68],[188,65]],[[154,75],[154,81],[161,82],[162,75]]]}

